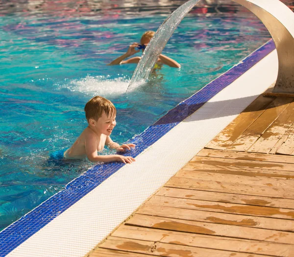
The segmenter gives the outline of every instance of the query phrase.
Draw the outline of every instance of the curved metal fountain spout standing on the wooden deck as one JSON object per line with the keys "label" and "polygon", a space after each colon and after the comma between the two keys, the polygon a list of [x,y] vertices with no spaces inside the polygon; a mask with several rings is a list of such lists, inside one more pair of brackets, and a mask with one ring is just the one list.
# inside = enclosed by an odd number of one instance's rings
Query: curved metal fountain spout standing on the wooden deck
{"label": "curved metal fountain spout standing on the wooden deck", "polygon": [[294,13],[279,0],[232,0],[254,13],[276,46],[279,71],[272,93],[294,94]]}

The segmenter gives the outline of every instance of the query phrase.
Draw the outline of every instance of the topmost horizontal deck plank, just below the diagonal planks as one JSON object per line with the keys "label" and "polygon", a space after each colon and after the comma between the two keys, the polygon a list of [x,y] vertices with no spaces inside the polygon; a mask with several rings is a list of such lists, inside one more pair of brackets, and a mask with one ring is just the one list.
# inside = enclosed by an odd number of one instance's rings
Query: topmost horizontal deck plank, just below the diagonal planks
{"label": "topmost horizontal deck plank, just below the diagonal planks", "polygon": [[234,160],[253,160],[253,161],[269,161],[294,164],[294,156],[276,155],[276,154],[256,154],[246,152],[226,152],[213,149],[202,149],[197,156],[227,158]]}

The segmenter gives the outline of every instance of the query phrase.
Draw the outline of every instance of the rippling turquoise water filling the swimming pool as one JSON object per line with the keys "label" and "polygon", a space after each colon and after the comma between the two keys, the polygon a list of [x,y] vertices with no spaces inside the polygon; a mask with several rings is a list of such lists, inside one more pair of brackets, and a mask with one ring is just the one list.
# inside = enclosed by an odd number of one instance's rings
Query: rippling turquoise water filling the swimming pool
{"label": "rippling turquoise water filling the swimming pool", "polygon": [[199,5],[184,18],[163,52],[181,69],[163,66],[129,94],[136,66],[106,64],[156,30],[175,2],[0,4],[0,230],[93,165],[48,162],[87,126],[90,98],[115,103],[112,139],[123,143],[270,39],[257,18],[229,2]]}

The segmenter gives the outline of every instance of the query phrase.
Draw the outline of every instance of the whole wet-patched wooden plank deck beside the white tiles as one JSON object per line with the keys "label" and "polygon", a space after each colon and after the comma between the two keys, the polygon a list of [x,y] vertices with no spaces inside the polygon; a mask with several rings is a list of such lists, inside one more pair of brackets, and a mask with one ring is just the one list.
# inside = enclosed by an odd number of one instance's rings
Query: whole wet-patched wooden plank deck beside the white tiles
{"label": "whole wet-patched wooden plank deck beside the white tiles", "polygon": [[294,99],[260,96],[88,257],[294,257]]}

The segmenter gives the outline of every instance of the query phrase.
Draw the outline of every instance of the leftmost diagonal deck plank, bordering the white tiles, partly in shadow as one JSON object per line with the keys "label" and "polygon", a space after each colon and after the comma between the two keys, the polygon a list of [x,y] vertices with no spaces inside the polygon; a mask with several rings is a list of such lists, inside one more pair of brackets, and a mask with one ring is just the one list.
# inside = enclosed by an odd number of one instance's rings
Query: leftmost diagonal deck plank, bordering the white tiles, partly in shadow
{"label": "leftmost diagonal deck plank, bordering the white tiles, partly in shadow", "polygon": [[205,148],[225,150],[265,111],[274,99],[259,96]]}

